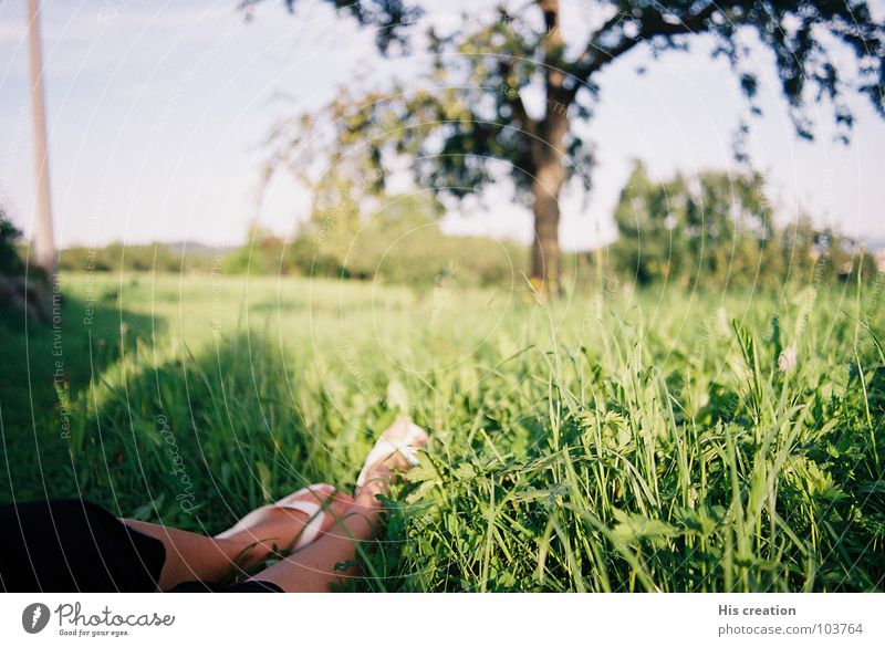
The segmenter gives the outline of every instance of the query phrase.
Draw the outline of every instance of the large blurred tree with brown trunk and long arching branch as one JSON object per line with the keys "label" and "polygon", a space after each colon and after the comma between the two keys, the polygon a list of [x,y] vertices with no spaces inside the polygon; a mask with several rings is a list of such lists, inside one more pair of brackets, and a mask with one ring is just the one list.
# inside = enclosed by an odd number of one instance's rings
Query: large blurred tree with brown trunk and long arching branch
{"label": "large blurred tree with brown trunk and long arching branch", "polygon": [[[378,28],[383,53],[413,45],[420,7],[404,0],[330,1]],[[285,3],[293,10],[294,0]],[[324,116],[335,133],[333,165],[346,157],[345,147],[367,148],[361,155],[382,170],[385,152],[409,155],[418,181],[456,197],[499,179],[503,163],[518,197],[534,212],[531,278],[541,291],[559,288],[561,191],[570,178],[586,179],[592,163],[592,142],[576,126],[593,114],[600,72],[631,52],[646,48],[657,58],[687,49],[696,34],[711,35],[712,54],[728,60],[753,115],[759,71],[750,66],[746,36],[754,34],[773,54],[798,136],[813,137],[805,106],[823,98],[843,139],[854,124],[850,94],[866,96],[885,116],[885,28],[863,0],[594,0],[582,4],[593,25],[574,42],[563,33],[559,0],[514,7],[501,4],[492,20],[465,19],[446,33],[429,29],[421,46],[433,64],[414,87],[362,97],[343,91]],[[842,54],[853,70],[836,65]],[[532,93],[543,98],[540,111],[529,108]],[[742,122],[739,132],[746,129]],[[281,143],[291,144],[290,132],[278,133]],[[278,160],[287,156],[284,149],[277,154]]]}

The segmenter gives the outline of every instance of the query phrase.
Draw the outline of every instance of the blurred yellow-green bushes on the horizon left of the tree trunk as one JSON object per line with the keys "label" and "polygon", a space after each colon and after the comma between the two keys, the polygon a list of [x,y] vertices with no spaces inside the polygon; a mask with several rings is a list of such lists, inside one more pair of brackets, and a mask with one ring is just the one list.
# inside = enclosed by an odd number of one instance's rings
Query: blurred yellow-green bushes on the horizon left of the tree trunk
{"label": "blurred yellow-green bushes on the horizon left of the tree trunk", "polygon": [[528,250],[481,237],[444,236],[438,207],[421,197],[395,197],[369,218],[345,205],[316,210],[293,240],[253,227],[232,250],[164,243],[62,250],[66,271],[156,271],[271,274],[378,280],[429,285],[521,283]]}

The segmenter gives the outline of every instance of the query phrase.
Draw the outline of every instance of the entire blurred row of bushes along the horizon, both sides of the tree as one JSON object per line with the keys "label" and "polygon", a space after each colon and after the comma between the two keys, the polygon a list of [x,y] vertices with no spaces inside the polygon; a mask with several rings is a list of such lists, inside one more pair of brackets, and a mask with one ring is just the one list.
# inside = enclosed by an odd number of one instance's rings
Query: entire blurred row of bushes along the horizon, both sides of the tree
{"label": "entire blurred row of bushes along the horizon, both sides of the tree", "polygon": [[[621,284],[767,289],[853,280],[858,272],[867,279],[876,275],[874,255],[851,239],[816,229],[806,217],[777,219],[764,188],[759,175],[717,171],[655,181],[637,163],[614,212],[618,240],[597,252],[566,255],[563,283],[593,285],[605,275]],[[523,283],[528,249],[489,238],[444,236],[437,225],[442,210],[431,197],[362,198],[357,205],[353,187],[326,189],[292,240],[254,227],[242,247],[226,250],[163,243],[72,248],[61,252],[60,268],[413,285]],[[3,222],[0,272],[21,264],[12,253],[18,231]]]}

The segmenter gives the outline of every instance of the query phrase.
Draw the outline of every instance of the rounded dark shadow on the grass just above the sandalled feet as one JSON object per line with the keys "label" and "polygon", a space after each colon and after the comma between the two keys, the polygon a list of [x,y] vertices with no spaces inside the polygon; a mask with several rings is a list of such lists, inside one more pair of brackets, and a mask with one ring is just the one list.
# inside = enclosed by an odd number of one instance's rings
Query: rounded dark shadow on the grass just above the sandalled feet
{"label": "rounded dark shadow on the grass just above the sandalled feet", "polygon": [[81,491],[119,515],[214,534],[308,483],[343,478],[351,466],[333,459],[325,425],[308,428],[290,369],[254,333],[158,364],[144,351],[127,356],[72,437]]}

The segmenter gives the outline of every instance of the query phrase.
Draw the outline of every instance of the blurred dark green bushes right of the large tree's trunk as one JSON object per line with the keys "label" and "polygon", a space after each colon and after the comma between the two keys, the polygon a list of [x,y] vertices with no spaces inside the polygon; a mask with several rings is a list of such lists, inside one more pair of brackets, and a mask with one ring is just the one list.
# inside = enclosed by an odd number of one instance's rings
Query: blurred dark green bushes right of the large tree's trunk
{"label": "blurred dark green bushes right of the large tree's trunk", "polygon": [[876,275],[875,257],[855,241],[815,229],[806,216],[777,222],[764,188],[758,174],[653,181],[636,163],[614,213],[618,240],[604,262],[638,284],[717,290]]}

